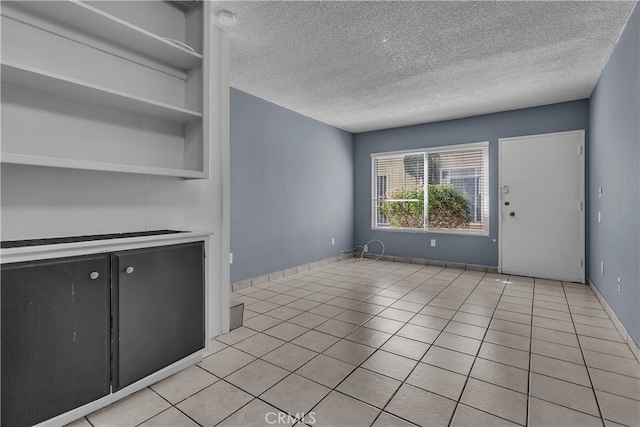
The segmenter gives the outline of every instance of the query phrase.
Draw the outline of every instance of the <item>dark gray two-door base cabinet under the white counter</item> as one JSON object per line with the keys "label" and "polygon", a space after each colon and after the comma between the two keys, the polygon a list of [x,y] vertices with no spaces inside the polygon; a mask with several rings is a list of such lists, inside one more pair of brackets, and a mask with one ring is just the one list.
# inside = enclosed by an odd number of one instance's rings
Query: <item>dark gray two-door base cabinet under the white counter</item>
{"label": "dark gray two-door base cabinet under the white counter", "polygon": [[204,242],[2,265],[2,426],[33,425],[205,346]]}

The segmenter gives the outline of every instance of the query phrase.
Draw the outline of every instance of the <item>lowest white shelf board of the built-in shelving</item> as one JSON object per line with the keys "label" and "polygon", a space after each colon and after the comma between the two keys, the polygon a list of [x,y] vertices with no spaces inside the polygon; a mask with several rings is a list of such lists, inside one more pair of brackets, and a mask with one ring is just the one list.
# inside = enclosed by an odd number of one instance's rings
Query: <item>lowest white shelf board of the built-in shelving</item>
{"label": "lowest white shelf board of the built-in shelving", "polygon": [[55,168],[67,169],[83,169],[92,171],[106,172],[128,172],[144,175],[162,175],[175,176],[187,179],[207,178],[202,171],[159,168],[152,166],[127,165],[119,163],[95,162],[89,160],[64,159],[58,157],[33,156],[28,154],[1,153],[0,159],[2,163],[30,165],[30,166],[47,166]]}

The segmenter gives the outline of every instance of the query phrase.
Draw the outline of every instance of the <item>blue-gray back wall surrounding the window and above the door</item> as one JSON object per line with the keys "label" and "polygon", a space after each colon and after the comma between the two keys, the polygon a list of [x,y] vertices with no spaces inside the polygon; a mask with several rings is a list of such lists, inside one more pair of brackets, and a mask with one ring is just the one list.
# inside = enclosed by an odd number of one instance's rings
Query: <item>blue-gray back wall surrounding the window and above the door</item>
{"label": "blue-gray back wall surrounding the window and above the door", "polygon": [[[586,129],[588,101],[580,100],[355,136],[355,243],[380,239],[389,255],[498,265],[498,138]],[[371,153],[489,141],[489,235],[407,233],[371,229]],[[430,247],[436,239],[436,247]],[[370,250],[378,246],[372,244]]]}

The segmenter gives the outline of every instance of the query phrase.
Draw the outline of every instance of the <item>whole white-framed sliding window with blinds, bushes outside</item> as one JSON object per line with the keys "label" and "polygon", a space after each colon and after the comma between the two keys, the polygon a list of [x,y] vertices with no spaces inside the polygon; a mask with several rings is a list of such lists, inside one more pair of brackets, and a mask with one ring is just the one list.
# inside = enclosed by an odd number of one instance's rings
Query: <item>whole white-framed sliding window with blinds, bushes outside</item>
{"label": "whole white-framed sliding window with blinds, bushes outside", "polygon": [[488,142],[371,157],[373,228],[488,233]]}

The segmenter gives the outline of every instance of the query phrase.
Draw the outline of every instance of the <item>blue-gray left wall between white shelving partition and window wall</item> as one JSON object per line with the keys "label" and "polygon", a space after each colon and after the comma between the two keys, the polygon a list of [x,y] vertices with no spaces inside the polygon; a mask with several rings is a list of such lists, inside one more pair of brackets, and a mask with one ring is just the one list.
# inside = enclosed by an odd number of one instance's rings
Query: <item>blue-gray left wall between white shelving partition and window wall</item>
{"label": "blue-gray left wall between white shelving partition and window wall", "polygon": [[230,169],[231,283],[353,247],[352,134],[231,88]]}

